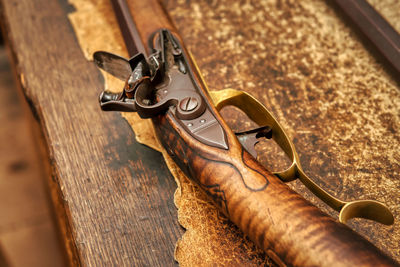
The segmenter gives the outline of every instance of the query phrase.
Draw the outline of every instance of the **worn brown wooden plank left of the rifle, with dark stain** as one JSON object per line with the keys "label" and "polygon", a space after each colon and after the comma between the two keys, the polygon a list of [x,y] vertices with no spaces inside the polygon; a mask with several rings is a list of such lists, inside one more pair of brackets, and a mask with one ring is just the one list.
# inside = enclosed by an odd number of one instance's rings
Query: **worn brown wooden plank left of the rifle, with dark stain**
{"label": "worn brown wooden plank left of the rifle, with dark stain", "polygon": [[120,115],[100,112],[99,71],[84,59],[63,6],[2,1],[2,12],[19,82],[49,149],[59,217],[68,218],[71,264],[174,265],[182,232],[175,182]]}

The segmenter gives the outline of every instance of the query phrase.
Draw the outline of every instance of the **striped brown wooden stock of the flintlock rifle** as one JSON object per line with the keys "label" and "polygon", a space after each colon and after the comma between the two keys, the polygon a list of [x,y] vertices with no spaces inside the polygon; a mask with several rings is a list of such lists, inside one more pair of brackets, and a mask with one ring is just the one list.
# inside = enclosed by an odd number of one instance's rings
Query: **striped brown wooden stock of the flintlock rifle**
{"label": "striped brown wooden stock of the flintlock rifle", "polygon": [[[176,34],[156,0],[130,0],[128,5],[143,43],[160,28]],[[192,59],[188,61],[199,85],[199,94],[224,131],[227,149],[193,138],[173,109],[154,117],[153,123],[172,159],[232,222],[282,265],[397,264],[346,225],[336,222],[291,190],[243,149],[213,106],[195,63]]]}

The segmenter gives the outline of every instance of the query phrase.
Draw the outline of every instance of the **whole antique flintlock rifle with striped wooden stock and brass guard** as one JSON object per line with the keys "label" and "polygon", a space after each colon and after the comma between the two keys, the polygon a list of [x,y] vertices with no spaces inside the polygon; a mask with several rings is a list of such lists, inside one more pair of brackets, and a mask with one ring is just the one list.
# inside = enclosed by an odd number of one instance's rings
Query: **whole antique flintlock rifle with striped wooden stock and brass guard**
{"label": "whole antique flintlock rifle with striped wooden stock and brass guard", "polygon": [[[112,0],[129,60],[96,52],[94,61],[126,80],[121,93],[103,92],[102,110],[151,118],[168,154],[215,205],[278,264],[293,266],[395,266],[374,245],[321,212],[284,182],[300,179],[339,220],[354,217],[393,223],[390,211],[372,200],[341,201],[310,180],[293,143],[265,107],[250,95],[210,93],[193,58],[157,0]],[[132,12],[131,12],[132,11]],[[233,133],[218,110],[233,105],[260,127]],[[293,161],[271,173],[254,145],[272,138]]]}

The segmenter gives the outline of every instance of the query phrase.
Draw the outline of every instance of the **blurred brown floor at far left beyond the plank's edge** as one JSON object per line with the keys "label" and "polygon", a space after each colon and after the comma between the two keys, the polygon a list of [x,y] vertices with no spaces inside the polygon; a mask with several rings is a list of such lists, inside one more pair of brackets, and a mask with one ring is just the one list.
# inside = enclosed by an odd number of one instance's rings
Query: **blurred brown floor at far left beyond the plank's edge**
{"label": "blurred brown floor at far left beyond the plank's edge", "polygon": [[0,267],[65,266],[30,110],[0,45]]}

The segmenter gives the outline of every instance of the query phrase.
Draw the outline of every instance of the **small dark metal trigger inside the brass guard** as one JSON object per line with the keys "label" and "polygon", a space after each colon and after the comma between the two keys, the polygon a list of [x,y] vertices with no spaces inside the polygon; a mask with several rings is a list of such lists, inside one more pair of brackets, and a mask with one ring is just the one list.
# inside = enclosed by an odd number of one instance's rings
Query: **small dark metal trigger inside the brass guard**
{"label": "small dark metal trigger inside the brass guard", "polygon": [[269,126],[255,128],[249,131],[235,133],[236,137],[242,146],[250,153],[255,159],[257,158],[257,151],[255,146],[260,142],[260,138],[272,138],[272,129]]}

